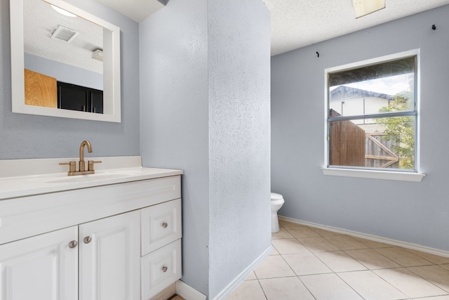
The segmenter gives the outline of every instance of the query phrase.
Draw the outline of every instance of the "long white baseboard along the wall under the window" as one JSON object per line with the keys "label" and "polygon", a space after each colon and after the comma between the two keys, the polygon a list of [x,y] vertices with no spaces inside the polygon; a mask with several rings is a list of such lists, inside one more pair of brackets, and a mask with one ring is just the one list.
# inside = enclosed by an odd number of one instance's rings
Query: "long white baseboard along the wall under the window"
{"label": "long white baseboard along the wall under the window", "polygon": [[377,235],[368,235],[366,233],[358,233],[356,231],[335,228],[332,226],[326,226],[326,225],[311,223],[311,222],[307,222],[307,221],[300,221],[297,219],[288,218],[286,216],[279,216],[279,220],[287,221],[290,223],[296,223],[296,224],[300,224],[300,225],[304,225],[304,226],[319,228],[319,229],[323,229],[323,230],[333,231],[334,233],[342,233],[344,235],[351,235],[353,237],[361,237],[366,240],[373,240],[375,242],[383,242],[384,244],[391,244],[394,246],[403,247],[403,248],[407,248],[407,249],[413,249],[413,250],[417,250],[420,252],[426,252],[426,253],[434,254],[434,255],[438,255],[438,256],[449,257],[448,251],[435,249],[435,248],[431,248],[431,247],[425,247],[420,244],[413,244],[410,242],[402,242],[399,240],[392,240],[392,239],[389,239],[386,237],[379,237]]}

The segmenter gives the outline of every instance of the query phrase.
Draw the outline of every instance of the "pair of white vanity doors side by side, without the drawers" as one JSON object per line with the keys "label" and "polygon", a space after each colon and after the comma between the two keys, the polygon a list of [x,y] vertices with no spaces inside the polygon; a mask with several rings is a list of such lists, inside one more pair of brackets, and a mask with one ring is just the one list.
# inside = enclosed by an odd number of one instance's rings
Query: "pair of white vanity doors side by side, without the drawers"
{"label": "pair of white vanity doors side by side, without the drawers", "polygon": [[0,264],[2,300],[140,299],[140,212],[3,244]]}

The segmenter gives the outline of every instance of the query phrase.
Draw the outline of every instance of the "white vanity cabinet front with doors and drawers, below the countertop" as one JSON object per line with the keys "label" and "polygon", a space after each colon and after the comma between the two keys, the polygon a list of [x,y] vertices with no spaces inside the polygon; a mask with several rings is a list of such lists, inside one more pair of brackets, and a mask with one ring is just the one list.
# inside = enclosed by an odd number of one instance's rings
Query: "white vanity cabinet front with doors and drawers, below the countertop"
{"label": "white vanity cabinet front with doors and drawers, below the countertop", "polygon": [[180,196],[178,175],[0,200],[0,300],[150,299],[181,277]]}

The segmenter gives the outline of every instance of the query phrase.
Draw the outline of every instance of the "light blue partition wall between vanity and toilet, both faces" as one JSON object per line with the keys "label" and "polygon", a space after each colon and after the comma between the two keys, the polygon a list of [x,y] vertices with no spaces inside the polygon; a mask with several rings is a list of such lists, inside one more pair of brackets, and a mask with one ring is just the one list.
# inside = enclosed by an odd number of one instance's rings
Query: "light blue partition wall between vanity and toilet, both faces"
{"label": "light blue partition wall between vanity and toilet, both faces", "polygon": [[270,247],[269,13],[170,0],[140,23],[144,166],[182,176],[182,281],[223,290]]}

